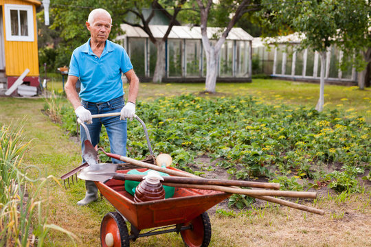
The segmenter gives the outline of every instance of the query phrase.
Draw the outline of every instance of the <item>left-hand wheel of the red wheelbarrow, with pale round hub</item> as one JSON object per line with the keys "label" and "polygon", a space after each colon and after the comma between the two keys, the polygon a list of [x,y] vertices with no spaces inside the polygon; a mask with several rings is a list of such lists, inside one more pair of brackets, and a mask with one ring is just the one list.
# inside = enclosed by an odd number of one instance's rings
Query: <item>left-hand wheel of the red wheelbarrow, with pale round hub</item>
{"label": "left-hand wheel of the red wheelbarrow, with pale round hub", "polygon": [[100,244],[102,247],[130,246],[128,228],[120,213],[110,212],[104,215],[100,224]]}

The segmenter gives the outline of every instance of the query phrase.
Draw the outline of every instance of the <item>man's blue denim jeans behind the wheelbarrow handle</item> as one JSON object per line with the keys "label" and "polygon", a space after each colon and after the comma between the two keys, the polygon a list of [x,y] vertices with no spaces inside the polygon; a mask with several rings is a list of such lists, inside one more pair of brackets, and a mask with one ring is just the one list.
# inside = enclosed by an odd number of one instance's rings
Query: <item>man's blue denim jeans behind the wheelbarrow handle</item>
{"label": "man's blue denim jeans behind the wheelbarrow handle", "polygon": [[[82,106],[91,112],[91,115],[104,113],[120,113],[124,107],[124,97],[111,99],[109,102],[91,103],[81,101]],[[100,131],[102,124],[106,127],[106,132],[109,137],[109,145],[111,153],[126,156],[126,140],[127,140],[127,121],[120,120],[120,115],[115,117],[93,118],[93,124],[86,124],[91,137],[91,144],[95,147],[99,143]],[[81,133],[81,150],[84,150],[84,141],[87,139],[85,129],[80,126]],[[83,152],[83,151],[82,151]],[[113,163],[122,163],[122,161],[112,158]]]}

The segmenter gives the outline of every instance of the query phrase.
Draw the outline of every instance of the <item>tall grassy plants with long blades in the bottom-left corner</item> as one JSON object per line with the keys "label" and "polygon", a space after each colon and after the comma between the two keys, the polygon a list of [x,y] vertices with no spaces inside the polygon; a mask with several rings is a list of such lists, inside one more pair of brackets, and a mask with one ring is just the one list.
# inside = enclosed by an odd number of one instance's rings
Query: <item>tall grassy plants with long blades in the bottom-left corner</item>
{"label": "tall grassy plants with long blades in the bottom-left corner", "polygon": [[[22,138],[22,128],[1,125],[0,130],[0,246],[43,246],[50,229],[72,233],[47,223],[47,198],[41,189],[54,177],[31,180],[22,159],[30,141]],[[58,183],[58,180],[56,180]],[[36,220],[35,220],[36,219]],[[74,241],[74,239],[73,239]]]}

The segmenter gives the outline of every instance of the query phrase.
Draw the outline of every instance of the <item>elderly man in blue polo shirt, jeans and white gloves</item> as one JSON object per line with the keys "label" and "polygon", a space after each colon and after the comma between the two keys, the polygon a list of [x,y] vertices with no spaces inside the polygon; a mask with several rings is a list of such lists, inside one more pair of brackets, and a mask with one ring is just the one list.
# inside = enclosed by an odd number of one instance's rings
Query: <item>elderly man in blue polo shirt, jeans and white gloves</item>
{"label": "elderly man in blue polo shirt, jeans and white gloves", "polygon": [[[107,40],[111,32],[112,19],[109,12],[95,9],[86,22],[91,37],[84,45],[76,48],[71,56],[69,75],[65,92],[69,102],[74,106],[76,115],[87,122],[91,142],[99,143],[102,124],[105,126],[111,152],[126,156],[126,119],[135,115],[135,100],[139,89],[139,80],[133,70],[128,54],[124,48]],[[128,79],[129,89],[126,104],[121,75]],[[76,82],[80,80],[80,93],[76,91]],[[79,99],[79,96],[81,100]],[[120,113],[117,117],[92,119],[91,115],[103,113]],[[81,145],[87,134],[81,130]],[[119,163],[113,159],[113,163]],[[85,182],[87,193],[78,205],[86,205],[98,199],[98,189],[93,181]]]}

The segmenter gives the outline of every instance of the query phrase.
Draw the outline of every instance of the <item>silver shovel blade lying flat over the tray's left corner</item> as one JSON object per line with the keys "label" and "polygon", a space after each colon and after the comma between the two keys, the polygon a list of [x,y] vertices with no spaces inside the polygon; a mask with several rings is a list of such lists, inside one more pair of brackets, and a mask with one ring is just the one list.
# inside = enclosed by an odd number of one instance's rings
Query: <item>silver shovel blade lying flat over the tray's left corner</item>
{"label": "silver shovel blade lying flat over the tray's left corner", "polygon": [[112,163],[100,163],[98,169],[92,169],[92,167],[85,167],[78,174],[78,178],[82,180],[91,180],[104,182],[113,177],[117,169],[117,164]]}

